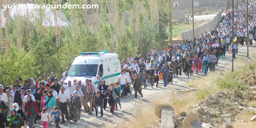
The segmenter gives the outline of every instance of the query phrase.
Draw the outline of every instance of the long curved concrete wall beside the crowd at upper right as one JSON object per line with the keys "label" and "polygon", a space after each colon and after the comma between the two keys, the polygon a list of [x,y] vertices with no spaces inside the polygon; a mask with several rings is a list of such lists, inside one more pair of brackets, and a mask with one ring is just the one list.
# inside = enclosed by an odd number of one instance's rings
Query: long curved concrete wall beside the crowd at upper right
{"label": "long curved concrete wall beside the crowd at upper right", "polygon": [[[194,28],[194,36],[198,37],[201,35],[201,33],[205,33],[205,31],[211,31],[213,28],[216,28],[219,25],[219,20],[221,18],[222,11],[219,10],[216,14],[216,16],[211,19],[209,22],[206,22],[198,27]],[[193,37],[193,29],[186,30],[182,32],[182,38],[188,39]]]}

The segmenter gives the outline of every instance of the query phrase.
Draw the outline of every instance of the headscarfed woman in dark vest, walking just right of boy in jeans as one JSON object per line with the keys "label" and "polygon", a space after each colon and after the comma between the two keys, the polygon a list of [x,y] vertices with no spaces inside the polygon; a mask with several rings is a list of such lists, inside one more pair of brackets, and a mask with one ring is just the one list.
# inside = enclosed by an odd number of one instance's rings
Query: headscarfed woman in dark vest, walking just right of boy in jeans
{"label": "headscarfed woman in dark vest, walking just right of boy in jeans", "polygon": [[114,86],[114,84],[112,82],[110,82],[109,87],[107,88],[107,99],[108,99],[108,104],[110,106],[110,112],[112,114],[114,114],[114,105],[115,105],[115,100],[116,100],[115,94],[117,94],[122,99],[122,97],[119,95],[119,93],[113,86]]}

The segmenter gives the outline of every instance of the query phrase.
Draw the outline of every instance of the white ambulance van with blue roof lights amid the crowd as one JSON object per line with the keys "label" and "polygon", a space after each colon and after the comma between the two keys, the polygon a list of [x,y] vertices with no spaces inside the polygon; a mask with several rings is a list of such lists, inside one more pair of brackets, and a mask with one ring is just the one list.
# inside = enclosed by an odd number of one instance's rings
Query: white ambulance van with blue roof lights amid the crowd
{"label": "white ambulance van with blue roof lights amid the crowd", "polygon": [[108,85],[110,82],[117,82],[119,74],[121,74],[121,68],[116,53],[82,52],[74,59],[64,82],[68,83],[70,80],[73,83],[73,80],[77,79],[85,84],[86,79],[91,79],[94,84],[97,84],[96,75],[99,75]]}

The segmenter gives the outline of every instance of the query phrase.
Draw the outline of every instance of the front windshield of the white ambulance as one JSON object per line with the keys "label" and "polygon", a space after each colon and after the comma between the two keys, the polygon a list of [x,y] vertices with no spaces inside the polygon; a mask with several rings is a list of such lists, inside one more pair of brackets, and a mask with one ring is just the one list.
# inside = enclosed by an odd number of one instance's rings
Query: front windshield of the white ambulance
{"label": "front windshield of the white ambulance", "polygon": [[96,76],[97,64],[72,65],[68,76]]}

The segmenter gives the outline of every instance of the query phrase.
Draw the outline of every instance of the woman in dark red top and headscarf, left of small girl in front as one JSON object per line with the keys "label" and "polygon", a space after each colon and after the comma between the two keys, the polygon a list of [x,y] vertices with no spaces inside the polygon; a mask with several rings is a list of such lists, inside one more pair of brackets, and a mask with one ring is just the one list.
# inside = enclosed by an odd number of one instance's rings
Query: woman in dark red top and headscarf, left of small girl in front
{"label": "woman in dark red top and headscarf, left of small girl in front", "polygon": [[39,113],[39,109],[37,107],[37,103],[36,103],[36,101],[32,100],[31,95],[28,95],[28,101],[24,105],[24,112],[26,113],[28,120],[29,120],[28,126],[30,128],[32,128],[34,125],[34,121],[35,121],[37,113],[38,114],[40,114],[40,113]]}

